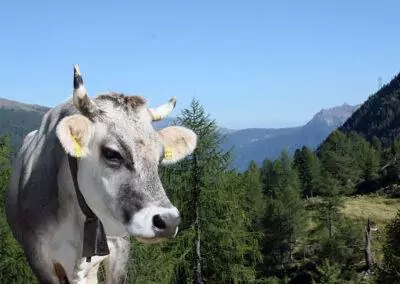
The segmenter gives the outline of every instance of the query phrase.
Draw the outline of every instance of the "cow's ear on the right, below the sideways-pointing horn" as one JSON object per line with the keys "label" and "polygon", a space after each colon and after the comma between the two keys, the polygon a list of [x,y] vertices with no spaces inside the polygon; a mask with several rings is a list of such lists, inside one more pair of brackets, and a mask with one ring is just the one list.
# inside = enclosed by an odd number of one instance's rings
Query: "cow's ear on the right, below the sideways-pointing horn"
{"label": "cow's ear on the right, below the sideways-pointing horn", "polygon": [[193,153],[197,146],[197,135],[182,126],[168,126],[158,131],[164,144],[162,165],[174,164]]}

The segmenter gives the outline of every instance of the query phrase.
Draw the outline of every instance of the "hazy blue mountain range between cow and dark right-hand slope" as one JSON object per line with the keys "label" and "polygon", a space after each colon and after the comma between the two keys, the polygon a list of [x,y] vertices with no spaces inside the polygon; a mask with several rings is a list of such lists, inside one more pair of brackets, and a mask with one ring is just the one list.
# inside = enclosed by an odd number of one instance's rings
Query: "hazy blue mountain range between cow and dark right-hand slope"
{"label": "hazy blue mountain range between cow and dark right-hand slope", "polygon": [[322,109],[303,126],[288,128],[248,128],[230,132],[222,145],[224,150],[233,147],[233,167],[239,171],[250,161],[261,165],[264,159],[276,159],[286,149],[293,155],[297,148],[316,149],[319,144],[360,107],[349,105]]}

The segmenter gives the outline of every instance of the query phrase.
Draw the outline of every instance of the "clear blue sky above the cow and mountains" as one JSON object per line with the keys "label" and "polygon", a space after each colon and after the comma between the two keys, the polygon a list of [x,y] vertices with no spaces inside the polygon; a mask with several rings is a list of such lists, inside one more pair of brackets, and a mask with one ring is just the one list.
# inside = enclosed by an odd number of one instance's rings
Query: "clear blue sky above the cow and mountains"
{"label": "clear blue sky above the cow and mountains", "polygon": [[193,97],[222,126],[305,123],[400,71],[400,1],[2,1],[0,97],[54,106],[78,63],[89,95]]}

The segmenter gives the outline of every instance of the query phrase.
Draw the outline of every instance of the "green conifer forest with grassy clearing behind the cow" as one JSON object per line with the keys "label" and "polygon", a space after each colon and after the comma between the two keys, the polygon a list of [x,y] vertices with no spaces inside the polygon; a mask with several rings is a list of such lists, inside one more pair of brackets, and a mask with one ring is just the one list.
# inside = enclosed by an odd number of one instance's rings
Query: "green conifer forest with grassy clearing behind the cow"
{"label": "green conifer forest with grassy clearing behind the cow", "polygon": [[[336,130],[318,156],[281,151],[237,173],[200,102],[177,123],[199,134],[193,155],[160,170],[180,232],[153,245],[132,239],[128,283],[397,283],[399,187],[396,171],[380,169],[400,155],[400,140],[385,147]],[[2,195],[8,149],[3,138]],[[35,283],[0,209],[1,283]]]}

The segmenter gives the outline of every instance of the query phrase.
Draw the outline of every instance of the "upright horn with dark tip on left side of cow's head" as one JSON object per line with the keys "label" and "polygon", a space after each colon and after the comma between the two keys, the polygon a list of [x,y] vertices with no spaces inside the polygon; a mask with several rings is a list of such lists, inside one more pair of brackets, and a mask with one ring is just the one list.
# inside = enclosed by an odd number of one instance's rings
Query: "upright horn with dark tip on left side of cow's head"
{"label": "upright horn with dark tip on left side of cow's head", "polygon": [[85,116],[93,117],[97,109],[89,99],[78,64],[74,65],[74,93],[72,98],[75,107]]}

